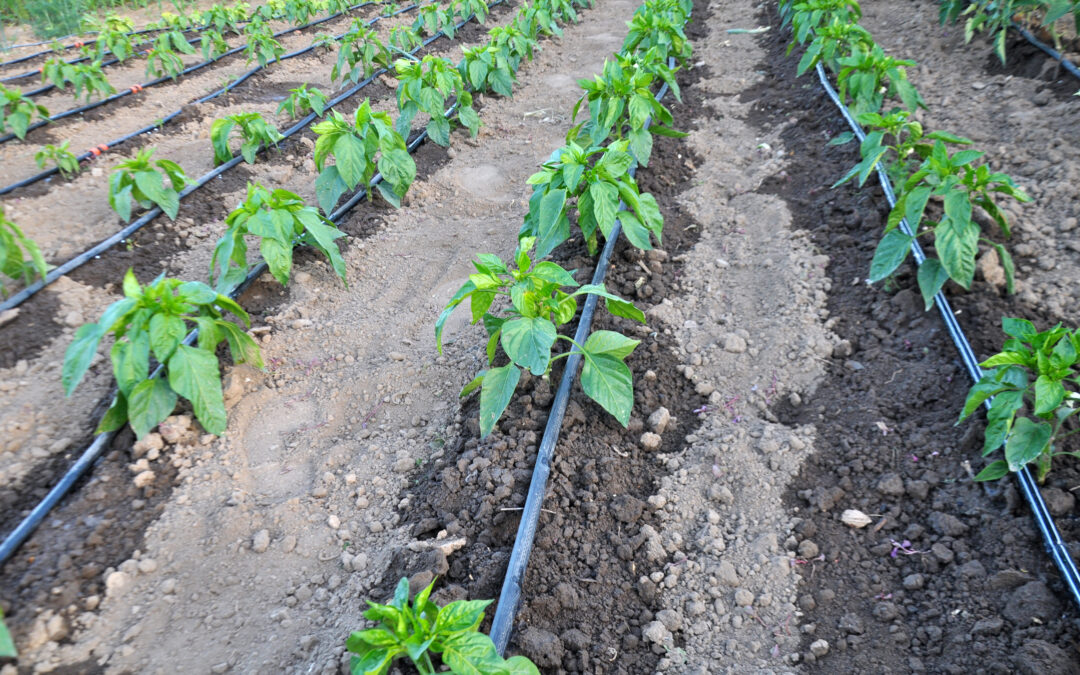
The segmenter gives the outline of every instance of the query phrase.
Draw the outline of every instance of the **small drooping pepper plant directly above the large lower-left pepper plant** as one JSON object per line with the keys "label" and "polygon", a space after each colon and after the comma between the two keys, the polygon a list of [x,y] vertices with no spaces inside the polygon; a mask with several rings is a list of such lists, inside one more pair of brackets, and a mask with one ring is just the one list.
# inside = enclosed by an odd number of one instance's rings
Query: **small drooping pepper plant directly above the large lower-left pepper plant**
{"label": "small drooping pepper plant directly above the large lower-left pepper plant", "polygon": [[173,220],[180,208],[179,191],[188,184],[180,165],[171,160],[157,160],[151,165],[153,148],[143,148],[125,162],[112,167],[109,176],[109,206],[124,222],[132,219],[132,199],[143,208],[154,204]]}

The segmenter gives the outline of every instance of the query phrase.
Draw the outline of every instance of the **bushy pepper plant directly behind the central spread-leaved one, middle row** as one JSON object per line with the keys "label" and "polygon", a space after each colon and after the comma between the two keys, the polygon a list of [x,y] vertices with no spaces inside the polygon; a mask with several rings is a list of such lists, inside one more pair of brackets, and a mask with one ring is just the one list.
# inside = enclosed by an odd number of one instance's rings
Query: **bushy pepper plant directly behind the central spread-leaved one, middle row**
{"label": "bushy pepper plant directly behind the central spread-leaved one, middle row", "polygon": [[639,192],[630,175],[634,159],[626,141],[607,148],[583,148],[568,143],[552,153],[542,170],[529,177],[535,186],[522,237],[537,238],[537,255],[544,257],[570,237],[570,208],[577,210],[590,255],[596,255],[597,231],[611,235],[616,220],[635,247],[652,248],[651,235],[660,241],[663,217],[656,198]]}

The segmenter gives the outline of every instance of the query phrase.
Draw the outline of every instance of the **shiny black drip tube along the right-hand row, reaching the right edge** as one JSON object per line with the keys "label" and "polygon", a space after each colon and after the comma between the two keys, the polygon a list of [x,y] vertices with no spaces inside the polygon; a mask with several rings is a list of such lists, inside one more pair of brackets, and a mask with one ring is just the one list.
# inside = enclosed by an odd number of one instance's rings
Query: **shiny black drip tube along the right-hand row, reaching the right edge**
{"label": "shiny black drip tube along the right-hand row, reaching the right edge", "polygon": [[[832,83],[828,81],[828,77],[825,75],[825,69],[822,65],[818,64],[818,79],[821,81],[822,87],[824,87],[825,93],[832,99],[833,104],[840,110],[843,119],[847,120],[848,125],[851,131],[859,137],[862,141],[866,134],[863,132],[863,127],[851,117],[851,112],[848,110],[847,106],[840,100],[837,95],[836,90],[833,89]],[[889,206],[896,205],[896,197],[892,189],[892,181],[889,180],[888,174],[885,170],[878,165],[876,166],[878,181],[881,184],[881,189],[885,191],[886,199],[889,201]],[[912,231],[910,225],[907,219],[904,218],[900,221],[901,230],[912,237],[912,254],[915,256],[916,265],[922,265],[927,259],[926,254],[922,252],[922,246],[919,242],[915,240],[915,233]],[[960,352],[960,360],[963,362],[964,368],[968,370],[968,375],[971,377],[973,382],[977,382],[983,377],[983,370],[978,366],[978,359],[975,356],[974,350],[971,348],[971,342],[968,341],[968,336],[964,335],[963,328],[960,327],[960,323],[957,321],[956,315],[953,313],[953,308],[949,306],[948,299],[945,294],[941,291],[934,296],[934,303],[937,306],[937,311],[945,322],[945,327],[948,329],[949,336],[953,338],[956,349]],[[993,399],[986,401],[986,408],[989,409]],[[1080,607],[1080,572],[1077,570],[1076,563],[1072,561],[1072,556],[1069,555],[1069,550],[1062,539],[1062,534],[1057,530],[1057,526],[1054,525],[1054,519],[1050,515],[1050,511],[1047,509],[1047,502],[1042,499],[1042,494],[1039,491],[1039,486],[1036,484],[1035,478],[1031,476],[1031,472],[1028,471],[1027,467],[1024,467],[1021,471],[1016,473],[1016,480],[1020,481],[1021,491],[1024,492],[1024,497],[1027,499],[1028,504],[1031,507],[1031,515],[1035,516],[1035,524],[1039,528],[1039,532],[1042,535],[1042,541],[1045,544],[1047,552],[1050,553],[1050,557],[1053,558],[1054,564],[1057,569],[1062,572],[1062,580],[1065,582],[1066,588],[1069,590],[1069,594],[1072,596],[1072,600]]]}

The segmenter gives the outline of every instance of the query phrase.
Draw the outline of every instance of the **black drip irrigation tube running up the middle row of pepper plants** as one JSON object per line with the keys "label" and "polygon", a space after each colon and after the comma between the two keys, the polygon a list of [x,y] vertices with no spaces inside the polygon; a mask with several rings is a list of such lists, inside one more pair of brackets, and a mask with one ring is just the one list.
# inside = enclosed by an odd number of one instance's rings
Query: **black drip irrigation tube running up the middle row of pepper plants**
{"label": "black drip irrigation tube running up the middle row of pepper plants", "polygon": [[[669,67],[674,68],[675,59],[669,59]],[[656,99],[663,99],[667,93],[665,82],[656,94]],[[645,129],[649,127],[651,120],[646,120]],[[637,173],[637,166],[630,170],[633,178]],[[590,283],[603,284],[607,275],[608,262],[615,252],[616,242],[622,232],[622,225],[616,220],[611,228],[611,234],[604,243],[600,256],[596,260],[596,270],[593,272],[593,280]],[[581,310],[581,319],[578,320],[578,328],[573,333],[573,341],[584,345],[592,330],[593,315],[596,313],[598,296],[590,294],[585,298],[585,305]],[[570,403],[570,388],[578,375],[578,366],[581,365],[581,352],[572,352],[566,359],[566,366],[563,377],[558,381],[558,389],[555,391],[555,399],[551,404],[551,414],[548,416],[548,423],[543,429],[543,437],[540,440],[540,448],[537,450],[537,461],[532,468],[532,477],[529,481],[529,492],[525,498],[525,507],[522,510],[522,519],[517,524],[517,534],[514,536],[514,548],[510,552],[510,562],[507,564],[507,576],[502,578],[502,590],[499,592],[499,604],[495,608],[495,617],[491,619],[491,631],[489,633],[495,649],[502,656],[510,644],[510,633],[514,627],[514,617],[517,615],[518,606],[522,603],[522,585],[525,583],[525,570],[529,565],[529,555],[532,553],[532,543],[536,540],[537,527],[540,524],[540,511],[543,507],[544,492],[548,489],[548,476],[551,475],[551,460],[555,455],[555,445],[558,443],[558,435],[563,431],[563,417],[566,415],[566,406]]]}

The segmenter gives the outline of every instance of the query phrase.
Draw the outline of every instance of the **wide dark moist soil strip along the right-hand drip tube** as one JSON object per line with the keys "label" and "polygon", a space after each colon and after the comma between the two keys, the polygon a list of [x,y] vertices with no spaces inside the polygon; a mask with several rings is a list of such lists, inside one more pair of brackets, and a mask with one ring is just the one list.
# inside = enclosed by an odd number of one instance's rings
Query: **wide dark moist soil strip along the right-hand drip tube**
{"label": "wide dark moist soil strip along the right-hand drip tube", "polygon": [[[764,21],[778,26],[775,16]],[[768,85],[744,94],[752,121],[794,122],[782,134],[791,163],[764,189],[788,203],[829,256],[828,309],[847,340],[813,397],[773,409],[784,423],[818,430],[816,451],[787,496],[804,517],[798,539],[824,556],[798,566],[806,581],[798,604],[815,626],[805,647],[831,645],[816,663],[807,659],[808,670],[1080,672],[1077,608],[1015,482],[970,478],[966,464],[975,472],[984,464],[983,422],[955,426],[970,382],[941,319],[922,311],[912,268],[888,284],[861,281],[885,224],[882,193],[869,184],[828,189],[858,161],[854,148],[825,145],[845,123],[812,77],[795,78],[785,32],[760,40]],[[950,299],[983,356],[1000,346],[1000,316],[1055,321],[983,282]],[[1069,490],[1078,484],[1061,468],[1043,490],[1074,557],[1080,531]],[[839,521],[846,509],[885,517],[854,530]],[[906,551],[893,556],[893,541]]]}

